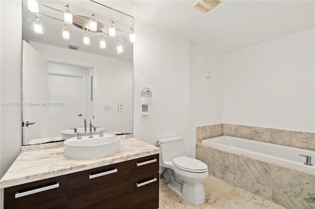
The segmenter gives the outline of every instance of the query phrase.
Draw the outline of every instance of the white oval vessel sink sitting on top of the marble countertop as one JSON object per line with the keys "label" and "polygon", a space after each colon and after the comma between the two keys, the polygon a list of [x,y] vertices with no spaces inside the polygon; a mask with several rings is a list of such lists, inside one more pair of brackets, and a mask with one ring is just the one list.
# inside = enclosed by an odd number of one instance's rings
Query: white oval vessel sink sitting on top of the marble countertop
{"label": "white oval vessel sink sitting on top of the marble countertop", "polygon": [[72,159],[93,159],[106,157],[120,151],[120,136],[104,134],[93,138],[83,136],[82,139],[72,137],[63,142],[64,157]]}

